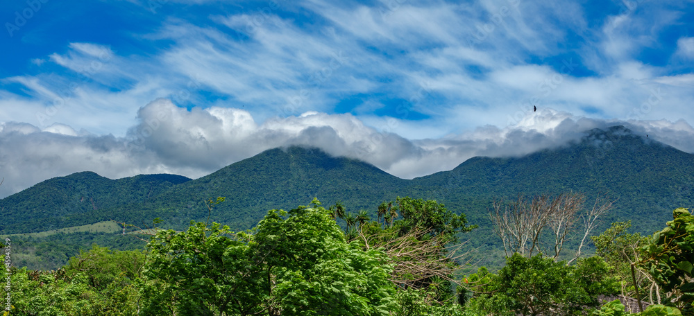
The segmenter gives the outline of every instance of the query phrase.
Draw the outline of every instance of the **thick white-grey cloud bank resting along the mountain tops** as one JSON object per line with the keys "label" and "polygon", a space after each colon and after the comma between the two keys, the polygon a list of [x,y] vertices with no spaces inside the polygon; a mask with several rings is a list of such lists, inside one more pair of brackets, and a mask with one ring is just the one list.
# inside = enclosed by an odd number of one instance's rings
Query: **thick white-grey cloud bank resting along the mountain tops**
{"label": "thick white-grey cloud bank resting along the mountain tops", "polygon": [[466,159],[521,156],[563,146],[586,130],[624,124],[638,134],[694,152],[694,128],[685,121],[604,121],[553,109],[526,114],[516,125],[486,125],[462,134],[410,141],[378,131],[350,114],[307,112],[256,123],[244,109],[191,111],[159,99],[139,109],[128,136],[78,133],[67,125],[41,130],[0,124],[0,197],[50,177],[91,170],[110,178],[139,173],[201,177],[263,150],[301,145],[367,161],[403,178],[450,170]]}

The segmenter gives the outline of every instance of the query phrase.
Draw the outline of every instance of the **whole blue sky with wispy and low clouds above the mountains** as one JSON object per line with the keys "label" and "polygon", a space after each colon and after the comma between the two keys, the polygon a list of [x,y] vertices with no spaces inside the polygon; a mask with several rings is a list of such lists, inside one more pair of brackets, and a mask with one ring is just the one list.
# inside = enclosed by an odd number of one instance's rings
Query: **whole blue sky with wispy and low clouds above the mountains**
{"label": "whole blue sky with wispy and low clouds above the mountains", "polygon": [[614,124],[694,151],[694,1],[0,8],[0,197],[81,170],[199,177],[287,144],[400,177]]}

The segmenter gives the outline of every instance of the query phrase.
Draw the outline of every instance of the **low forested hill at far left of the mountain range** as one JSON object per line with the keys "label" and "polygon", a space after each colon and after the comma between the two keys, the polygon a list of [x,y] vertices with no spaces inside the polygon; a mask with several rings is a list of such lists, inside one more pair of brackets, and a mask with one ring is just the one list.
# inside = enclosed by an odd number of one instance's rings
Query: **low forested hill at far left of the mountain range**
{"label": "low forested hill at far left of the mountain range", "polygon": [[146,204],[171,186],[189,180],[180,175],[137,175],[112,180],[92,172],[48,179],[0,200],[0,232],[91,224],[95,213],[128,204]]}

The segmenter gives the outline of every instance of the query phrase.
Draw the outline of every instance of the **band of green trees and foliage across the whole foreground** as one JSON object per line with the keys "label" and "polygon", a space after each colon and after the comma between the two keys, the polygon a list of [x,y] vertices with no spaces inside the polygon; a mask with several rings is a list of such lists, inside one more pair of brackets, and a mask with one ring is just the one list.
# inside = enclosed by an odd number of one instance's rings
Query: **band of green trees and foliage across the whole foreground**
{"label": "band of green trees and foliage across the whole foreground", "polygon": [[[480,267],[463,279],[455,297],[450,291],[455,280],[446,279],[452,276],[448,269],[453,263],[444,251],[446,244],[430,241],[455,241],[458,231],[472,227],[466,226],[464,216],[452,216],[437,202],[396,202],[400,215],[386,208],[382,223],[380,218],[362,218],[347,232],[335,222],[337,208],[326,210],[314,200],[289,212],[271,210],[245,232],[192,222],[187,231],[158,231],[145,252],[94,246],[57,271],[12,267],[8,276],[0,270],[0,279],[10,277],[12,284],[12,306],[0,315],[692,314],[687,263],[693,256],[694,217],[686,209],[675,210],[675,220],[634,256],[626,256],[618,245],[626,243],[633,250],[642,238],[624,234],[628,225],[616,223],[594,238],[607,260],[592,256],[566,265],[541,255],[515,254],[498,274]],[[356,231],[357,238],[348,239],[350,231]],[[418,258],[422,254],[425,260]],[[647,268],[654,285],[670,295],[663,300],[666,304],[638,314],[625,313],[618,301],[595,309],[599,295],[624,290],[620,266],[612,263],[625,259]],[[439,260],[443,265],[430,265]],[[437,271],[409,283],[398,279],[405,274],[396,271],[411,266],[412,271]],[[0,295],[6,297],[4,287]]]}

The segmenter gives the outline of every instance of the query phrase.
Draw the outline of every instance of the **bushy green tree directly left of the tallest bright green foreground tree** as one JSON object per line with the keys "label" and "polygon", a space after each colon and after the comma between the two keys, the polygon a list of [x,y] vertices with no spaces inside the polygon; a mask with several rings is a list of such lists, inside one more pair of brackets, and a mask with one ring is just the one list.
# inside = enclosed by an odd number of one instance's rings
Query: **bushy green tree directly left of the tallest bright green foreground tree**
{"label": "bushy green tree directly left of the tallest bright green foreground tree", "polygon": [[[248,315],[257,312],[260,280],[250,249],[229,227],[194,222],[187,231],[160,231],[142,285],[143,312],[163,315]],[[255,278],[255,279],[254,279]]]}

